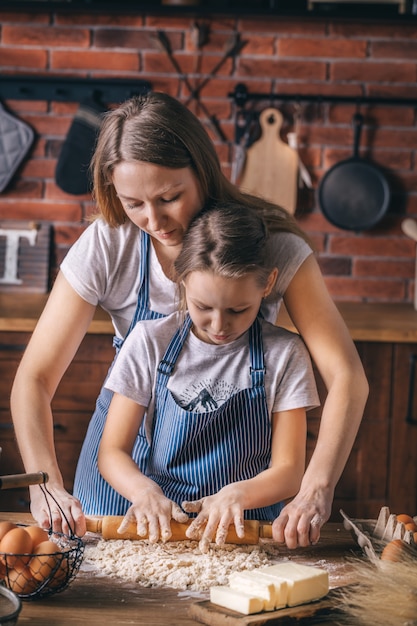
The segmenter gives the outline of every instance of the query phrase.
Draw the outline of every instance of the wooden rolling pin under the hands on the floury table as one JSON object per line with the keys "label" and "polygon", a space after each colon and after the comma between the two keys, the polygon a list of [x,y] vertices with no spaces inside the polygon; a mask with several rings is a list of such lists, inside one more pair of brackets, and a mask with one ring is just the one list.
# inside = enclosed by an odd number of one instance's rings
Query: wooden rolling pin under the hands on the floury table
{"label": "wooden rolling pin under the hands on the floury table", "polygon": [[[103,539],[146,539],[146,536],[139,537],[136,532],[136,523],[129,524],[127,530],[123,533],[118,533],[117,529],[122,523],[122,515],[105,515],[97,518],[86,518],[87,530],[93,533],[99,533]],[[175,520],[171,520],[172,536],[169,541],[182,541],[188,540],[185,531],[189,527],[193,520],[181,524]],[[272,538],[272,524],[271,522],[259,522],[258,520],[245,520],[245,536],[240,539],[236,535],[234,525],[231,525],[229,532],[227,533],[226,543],[235,544],[257,544],[259,538]]]}

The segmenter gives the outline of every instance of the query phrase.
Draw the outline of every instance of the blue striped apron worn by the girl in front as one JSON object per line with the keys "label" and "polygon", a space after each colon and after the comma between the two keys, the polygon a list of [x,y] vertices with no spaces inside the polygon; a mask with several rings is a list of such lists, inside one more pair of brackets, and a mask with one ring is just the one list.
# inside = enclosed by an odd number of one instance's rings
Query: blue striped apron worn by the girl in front
{"label": "blue striped apron worn by the girl in front", "polygon": [[[206,413],[179,406],[167,387],[191,327],[187,316],[158,367],[155,414],[146,474],[179,504],[256,476],[271,461],[271,421],[264,385],[262,329],[249,331],[252,386]],[[246,519],[274,520],[282,503],[245,511]]]}

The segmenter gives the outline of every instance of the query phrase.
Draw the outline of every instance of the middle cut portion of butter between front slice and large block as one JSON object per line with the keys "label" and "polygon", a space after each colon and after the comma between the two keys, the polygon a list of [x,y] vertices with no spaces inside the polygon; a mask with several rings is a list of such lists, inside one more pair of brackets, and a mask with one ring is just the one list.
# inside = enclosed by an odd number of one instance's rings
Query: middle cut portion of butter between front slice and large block
{"label": "middle cut portion of butter between front slice and large block", "polygon": [[229,586],[264,598],[265,611],[282,609],[287,603],[287,583],[284,580],[275,580],[259,569],[233,572],[229,576]]}

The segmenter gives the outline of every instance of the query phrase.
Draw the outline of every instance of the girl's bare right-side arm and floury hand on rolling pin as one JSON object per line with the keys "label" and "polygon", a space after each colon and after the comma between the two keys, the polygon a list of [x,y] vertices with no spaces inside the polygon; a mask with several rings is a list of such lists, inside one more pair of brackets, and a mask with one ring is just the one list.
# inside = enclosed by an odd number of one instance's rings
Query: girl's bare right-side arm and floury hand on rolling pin
{"label": "girl's bare right-side arm and floury hand on rolling pin", "polygon": [[191,539],[201,537],[203,552],[207,551],[214,536],[217,544],[224,543],[231,523],[234,523],[237,535],[243,537],[245,510],[270,506],[297,493],[305,469],[306,438],[304,409],[274,413],[268,469],[251,479],[226,485],[212,496],[183,503],[187,512],[198,512],[187,535]]}

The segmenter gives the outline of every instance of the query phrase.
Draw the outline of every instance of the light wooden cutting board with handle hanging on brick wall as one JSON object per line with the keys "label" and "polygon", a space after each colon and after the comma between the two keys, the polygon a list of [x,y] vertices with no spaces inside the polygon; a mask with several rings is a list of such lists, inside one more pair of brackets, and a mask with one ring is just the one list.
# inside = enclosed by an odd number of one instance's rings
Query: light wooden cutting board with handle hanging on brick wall
{"label": "light wooden cutting board with handle hanging on brick wall", "polygon": [[283,117],[275,108],[259,116],[261,137],[246,151],[240,188],[294,214],[297,205],[298,153],[280,137]]}

